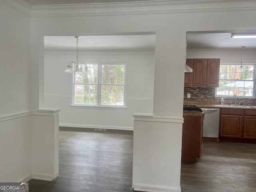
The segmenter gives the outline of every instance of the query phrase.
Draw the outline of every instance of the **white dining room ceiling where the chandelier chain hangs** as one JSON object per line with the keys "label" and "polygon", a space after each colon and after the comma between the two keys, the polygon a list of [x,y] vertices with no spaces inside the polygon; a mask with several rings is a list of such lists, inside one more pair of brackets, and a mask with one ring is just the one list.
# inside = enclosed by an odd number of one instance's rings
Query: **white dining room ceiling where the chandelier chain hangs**
{"label": "white dining room ceiling where the chandelier chain hangs", "polygon": [[[156,35],[80,36],[79,50],[154,50]],[[74,36],[45,36],[45,49],[76,49]]]}

